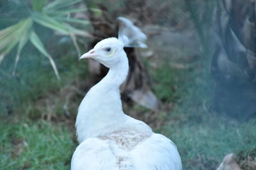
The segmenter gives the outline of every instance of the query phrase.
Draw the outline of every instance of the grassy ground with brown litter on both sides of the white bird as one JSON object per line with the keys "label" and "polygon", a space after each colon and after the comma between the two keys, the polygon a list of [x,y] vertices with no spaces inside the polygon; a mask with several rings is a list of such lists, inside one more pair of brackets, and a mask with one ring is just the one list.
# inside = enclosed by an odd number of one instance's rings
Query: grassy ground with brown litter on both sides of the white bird
{"label": "grassy ground with brown litter on both sides of the white bird", "polygon": [[[150,36],[148,46],[146,51],[152,51],[152,55],[143,60],[161,110],[124,103],[125,113],[172,139],[184,169],[216,169],[228,153],[235,153],[244,169],[253,169],[256,120],[241,122],[212,110],[214,81],[195,34],[161,29]],[[145,50],[138,52],[143,55]],[[2,169],[70,169],[77,146],[76,110],[88,89],[90,75],[86,61],[78,62],[76,55],[67,56],[65,52],[60,55],[56,62],[61,81],[56,80],[46,59],[40,57],[35,64],[32,54],[20,61],[19,66],[25,67],[18,69],[15,78],[8,76],[8,69],[1,69],[5,88],[1,92],[10,99],[1,104],[5,108],[0,120]],[[3,62],[3,67],[7,66],[8,60]]]}

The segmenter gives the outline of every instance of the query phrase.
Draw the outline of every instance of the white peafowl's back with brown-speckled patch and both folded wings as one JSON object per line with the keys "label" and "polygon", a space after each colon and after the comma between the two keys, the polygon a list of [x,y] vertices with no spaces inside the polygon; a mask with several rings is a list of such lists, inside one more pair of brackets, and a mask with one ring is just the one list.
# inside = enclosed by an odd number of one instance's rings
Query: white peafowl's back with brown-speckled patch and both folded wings
{"label": "white peafowl's back with brown-speckled patch and both folded wings", "polygon": [[72,170],[178,170],[177,148],[161,134],[135,129],[118,131],[81,143],[72,157]]}

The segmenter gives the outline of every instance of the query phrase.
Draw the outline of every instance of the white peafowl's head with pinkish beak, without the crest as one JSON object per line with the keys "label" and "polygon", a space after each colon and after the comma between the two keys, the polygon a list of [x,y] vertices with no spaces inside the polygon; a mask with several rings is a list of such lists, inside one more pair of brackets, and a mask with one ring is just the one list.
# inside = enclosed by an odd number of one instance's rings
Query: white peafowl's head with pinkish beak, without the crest
{"label": "white peafowl's head with pinkish beak, without the crest", "polygon": [[99,41],[92,50],[84,53],[80,59],[92,58],[110,68],[116,66],[125,57],[124,44],[117,38],[106,38]]}

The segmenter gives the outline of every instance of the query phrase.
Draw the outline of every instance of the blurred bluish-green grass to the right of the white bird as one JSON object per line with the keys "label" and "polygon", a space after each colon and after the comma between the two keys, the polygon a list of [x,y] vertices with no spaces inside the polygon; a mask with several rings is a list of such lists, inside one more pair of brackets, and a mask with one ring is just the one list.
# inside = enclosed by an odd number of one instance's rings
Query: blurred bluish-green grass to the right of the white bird
{"label": "blurred bluish-green grass to the right of the white bird", "polygon": [[[198,66],[202,63],[198,61]],[[160,132],[177,145],[184,169],[216,169],[228,153],[235,153],[238,160],[246,154],[255,157],[256,120],[239,122],[214,113],[214,82],[198,66],[180,70],[166,64],[154,74],[157,96],[174,103],[173,110],[166,110],[168,121]]]}

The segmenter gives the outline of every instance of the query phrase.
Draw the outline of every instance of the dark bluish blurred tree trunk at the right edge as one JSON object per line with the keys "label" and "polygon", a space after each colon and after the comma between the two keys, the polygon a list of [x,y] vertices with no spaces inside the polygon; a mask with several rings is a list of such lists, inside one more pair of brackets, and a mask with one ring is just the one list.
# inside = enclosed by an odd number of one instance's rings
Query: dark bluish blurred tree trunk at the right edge
{"label": "dark bluish blurred tree trunk at the right edge", "polygon": [[223,0],[216,10],[214,106],[236,118],[256,113],[255,0]]}

